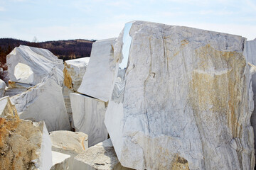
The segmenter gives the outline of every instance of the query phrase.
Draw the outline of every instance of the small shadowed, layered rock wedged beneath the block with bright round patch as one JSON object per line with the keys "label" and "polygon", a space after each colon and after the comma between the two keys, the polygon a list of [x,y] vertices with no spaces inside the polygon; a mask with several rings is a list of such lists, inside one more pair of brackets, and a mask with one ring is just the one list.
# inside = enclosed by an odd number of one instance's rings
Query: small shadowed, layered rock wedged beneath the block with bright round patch
{"label": "small shadowed, layered rock wedged beneath the block with bright round patch", "polygon": [[8,88],[4,91],[4,96],[15,96],[17,94],[21,94],[28,89],[31,89],[33,85],[31,84],[23,84],[23,83],[16,83],[14,81],[9,81]]}

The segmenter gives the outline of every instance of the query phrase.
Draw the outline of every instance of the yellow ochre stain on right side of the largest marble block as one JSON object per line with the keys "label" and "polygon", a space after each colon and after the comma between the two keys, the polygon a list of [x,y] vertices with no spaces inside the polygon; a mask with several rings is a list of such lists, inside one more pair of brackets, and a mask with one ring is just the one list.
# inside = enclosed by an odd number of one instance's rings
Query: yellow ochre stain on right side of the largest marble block
{"label": "yellow ochre stain on right side of the largest marble block", "polygon": [[191,106],[195,116],[211,123],[212,118],[218,119],[221,115],[233,137],[238,137],[245,58],[239,52],[218,51],[210,45],[198,48],[195,53],[198,62],[190,82]]}

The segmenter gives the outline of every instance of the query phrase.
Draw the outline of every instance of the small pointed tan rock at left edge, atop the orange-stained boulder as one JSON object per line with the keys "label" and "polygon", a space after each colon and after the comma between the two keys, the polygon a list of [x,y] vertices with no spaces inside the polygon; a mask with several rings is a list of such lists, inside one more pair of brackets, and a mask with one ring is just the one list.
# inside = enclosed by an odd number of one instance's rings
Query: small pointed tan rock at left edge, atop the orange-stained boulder
{"label": "small pointed tan rock at left edge, atop the orange-stained boulder", "polygon": [[18,113],[9,96],[0,98],[0,118],[18,118]]}

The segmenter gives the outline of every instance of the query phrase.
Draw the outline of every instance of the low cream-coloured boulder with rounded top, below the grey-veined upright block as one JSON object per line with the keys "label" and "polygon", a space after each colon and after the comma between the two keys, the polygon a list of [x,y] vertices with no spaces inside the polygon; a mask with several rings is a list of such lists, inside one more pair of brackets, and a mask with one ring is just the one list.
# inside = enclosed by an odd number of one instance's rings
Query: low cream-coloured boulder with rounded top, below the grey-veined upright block
{"label": "low cream-coloured boulder with rounded top, below the grey-veined upright block", "polygon": [[88,137],[83,132],[71,132],[66,130],[53,131],[50,132],[50,140],[53,143],[53,151],[70,156],[65,162],[58,165],[68,166],[69,169],[73,169],[74,157],[85,152],[88,148]]}

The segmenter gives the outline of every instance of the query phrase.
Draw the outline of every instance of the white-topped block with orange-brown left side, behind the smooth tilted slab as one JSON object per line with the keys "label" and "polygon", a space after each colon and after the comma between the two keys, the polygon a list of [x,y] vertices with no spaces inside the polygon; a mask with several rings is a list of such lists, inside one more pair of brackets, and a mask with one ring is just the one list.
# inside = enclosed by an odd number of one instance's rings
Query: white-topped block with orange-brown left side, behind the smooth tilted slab
{"label": "white-topped block with orange-brown left side, behind the smooth tilted slab", "polygon": [[74,127],[72,109],[70,104],[70,93],[78,91],[78,87],[82,82],[82,77],[85,74],[87,64],[89,63],[90,57],[83,57],[79,59],[66,60],[63,69],[64,74],[64,85],[63,85],[63,97],[65,106],[70,120],[70,125]]}

